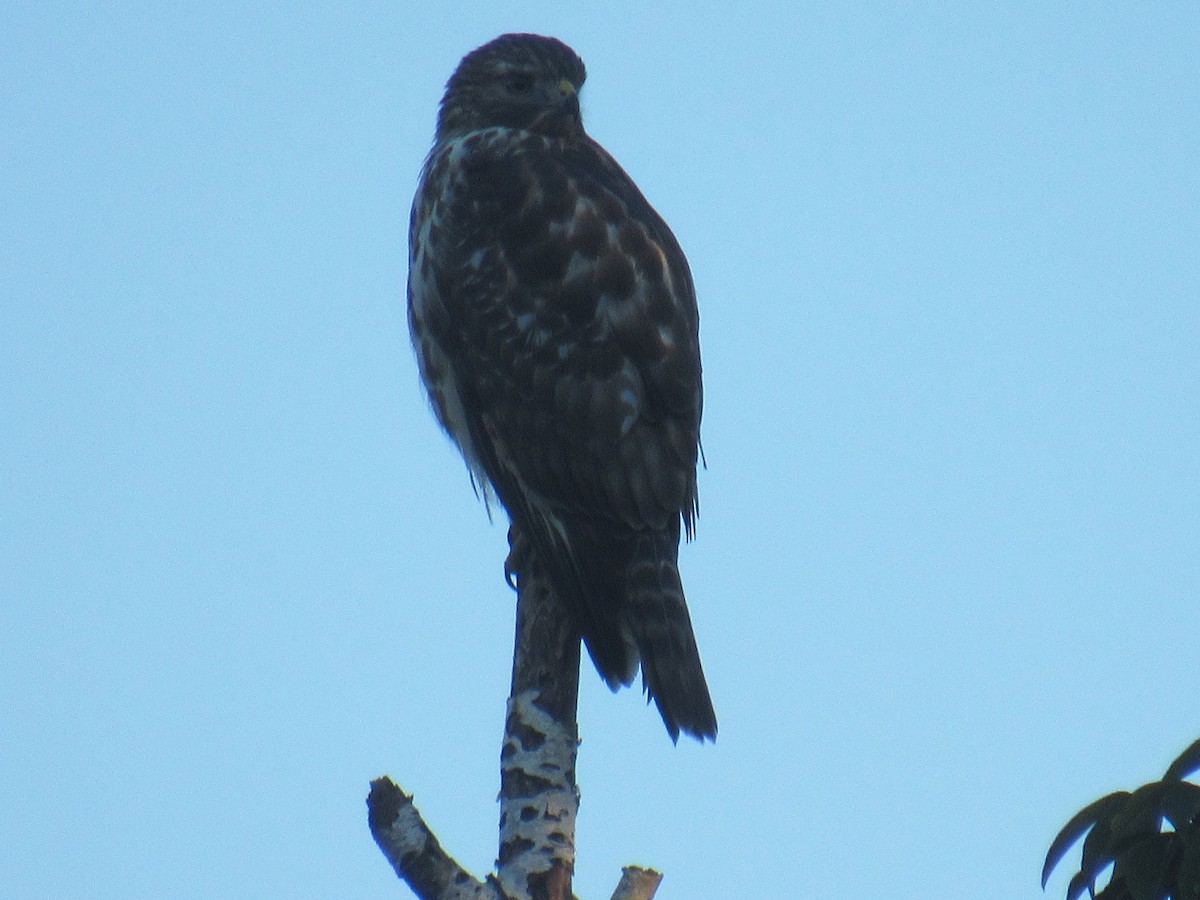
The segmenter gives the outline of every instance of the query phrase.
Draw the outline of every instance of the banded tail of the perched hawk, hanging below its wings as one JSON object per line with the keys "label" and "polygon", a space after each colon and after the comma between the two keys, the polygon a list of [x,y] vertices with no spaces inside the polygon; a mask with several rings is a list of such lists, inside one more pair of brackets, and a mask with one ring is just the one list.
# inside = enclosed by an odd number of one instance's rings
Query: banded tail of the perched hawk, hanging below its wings
{"label": "banded tail of the perched hawk, hanging below its wings", "polygon": [[708,695],[700,649],[683,595],[677,538],[640,534],[626,575],[625,626],[642,661],[646,692],[672,740],[679,732],[716,739],[716,713]]}

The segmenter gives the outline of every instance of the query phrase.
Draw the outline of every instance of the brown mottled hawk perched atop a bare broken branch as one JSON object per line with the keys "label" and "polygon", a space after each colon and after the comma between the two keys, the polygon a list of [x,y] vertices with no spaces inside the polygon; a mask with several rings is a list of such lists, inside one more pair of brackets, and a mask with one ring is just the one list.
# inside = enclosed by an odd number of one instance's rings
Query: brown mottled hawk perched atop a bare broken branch
{"label": "brown mottled hawk perched atop a bare broken branch", "polygon": [[703,742],[716,716],[677,562],[697,515],[696,293],[583,131],[584,77],[538,35],[455,70],[413,202],[409,329],[438,421],[509,512],[510,562],[541,564],[610,688],[641,665],[672,740]]}

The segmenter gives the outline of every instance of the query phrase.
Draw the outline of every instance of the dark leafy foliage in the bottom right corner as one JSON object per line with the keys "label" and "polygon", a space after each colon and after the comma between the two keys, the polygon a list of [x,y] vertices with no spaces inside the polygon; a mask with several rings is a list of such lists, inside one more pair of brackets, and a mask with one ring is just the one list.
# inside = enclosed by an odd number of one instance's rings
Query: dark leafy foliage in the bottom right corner
{"label": "dark leafy foliage in the bottom right corner", "polygon": [[[1200,900],[1200,740],[1170,764],[1162,781],[1117,791],[1088,804],[1063,826],[1042,868],[1042,887],[1085,834],[1067,900]],[[1096,882],[1112,868],[1108,884]]]}

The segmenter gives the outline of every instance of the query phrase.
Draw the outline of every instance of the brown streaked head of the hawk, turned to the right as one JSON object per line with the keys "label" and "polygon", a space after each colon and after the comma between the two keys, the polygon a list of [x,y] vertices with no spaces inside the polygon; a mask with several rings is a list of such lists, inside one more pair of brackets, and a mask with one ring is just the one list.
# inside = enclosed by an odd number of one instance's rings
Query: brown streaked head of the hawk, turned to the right
{"label": "brown streaked head of the hawk, turned to the right", "polygon": [[583,133],[580,88],[587,72],[570,47],[540,35],[502,35],[468,53],[446,83],[437,139],[478,128]]}

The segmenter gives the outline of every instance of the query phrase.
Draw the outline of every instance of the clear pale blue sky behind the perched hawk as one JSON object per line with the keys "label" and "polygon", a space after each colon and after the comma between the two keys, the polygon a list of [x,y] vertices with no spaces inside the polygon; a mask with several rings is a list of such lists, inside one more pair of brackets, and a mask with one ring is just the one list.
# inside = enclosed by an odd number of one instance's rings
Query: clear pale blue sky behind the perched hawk
{"label": "clear pale blue sky behind the perched hawk", "polygon": [[500,6],[0,11],[4,895],[404,896],[383,773],[491,865],[504,527],[403,283],[442,86],[521,30],[706,367],[720,738],[588,666],[576,892],[1039,896],[1200,736],[1200,6]]}

